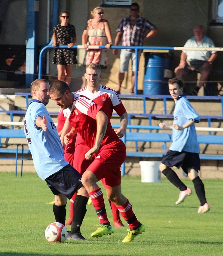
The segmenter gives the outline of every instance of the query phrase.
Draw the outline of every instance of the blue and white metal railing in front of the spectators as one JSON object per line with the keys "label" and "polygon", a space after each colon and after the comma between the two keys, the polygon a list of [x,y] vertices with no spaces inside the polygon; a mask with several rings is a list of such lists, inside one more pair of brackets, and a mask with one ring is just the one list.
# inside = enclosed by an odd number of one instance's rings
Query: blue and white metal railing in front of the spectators
{"label": "blue and white metal railing in front of the spectators", "polygon": [[[51,46],[46,45],[42,48],[40,51],[40,57],[39,57],[39,73],[38,78],[41,78],[42,76],[42,57],[45,51],[48,49],[68,49],[67,45],[61,45],[61,46]],[[83,45],[74,45],[69,49],[84,49]],[[105,46],[88,46],[88,49],[106,49]],[[135,95],[137,95],[137,87],[138,87],[138,50],[170,50],[170,51],[182,51],[182,50],[191,50],[191,51],[218,51],[223,52],[223,47],[212,47],[212,48],[197,48],[197,47],[177,47],[177,46],[111,46],[111,49],[131,49],[135,51],[136,54],[136,69],[135,69],[135,85],[134,85],[134,91]]]}

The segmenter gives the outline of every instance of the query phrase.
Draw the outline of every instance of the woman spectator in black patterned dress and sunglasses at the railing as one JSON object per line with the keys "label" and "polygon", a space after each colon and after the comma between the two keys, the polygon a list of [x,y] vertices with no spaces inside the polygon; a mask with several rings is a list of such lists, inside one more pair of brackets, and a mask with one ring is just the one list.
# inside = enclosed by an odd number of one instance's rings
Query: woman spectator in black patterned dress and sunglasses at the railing
{"label": "woman spectator in black patterned dress and sunglasses at the railing", "polygon": [[[68,45],[68,48],[71,48],[76,43],[75,27],[69,24],[69,18],[69,12],[60,13],[59,19],[61,23],[53,29],[52,46]],[[66,82],[68,85],[71,83],[72,65],[77,63],[76,55],[76,49],[56,49],[54,52],[53,64],[57,64],[57,78]]]}

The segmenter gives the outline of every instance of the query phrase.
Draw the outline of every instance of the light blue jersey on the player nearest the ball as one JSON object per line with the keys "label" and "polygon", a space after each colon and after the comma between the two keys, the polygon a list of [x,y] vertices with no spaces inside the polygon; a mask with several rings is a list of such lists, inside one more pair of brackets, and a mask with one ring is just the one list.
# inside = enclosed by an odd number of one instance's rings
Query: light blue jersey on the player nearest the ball
{"label": "light blue jersey on the player nearest the ball", "polygon": [[[35,122],[38,116],[46,116],[46,132],[36,126]],[[63,146],[56,126],[41,101],[30,101],[24,120],[24,132],[33,157],[34,167],[42,180],[69,164],[64,160]]]}

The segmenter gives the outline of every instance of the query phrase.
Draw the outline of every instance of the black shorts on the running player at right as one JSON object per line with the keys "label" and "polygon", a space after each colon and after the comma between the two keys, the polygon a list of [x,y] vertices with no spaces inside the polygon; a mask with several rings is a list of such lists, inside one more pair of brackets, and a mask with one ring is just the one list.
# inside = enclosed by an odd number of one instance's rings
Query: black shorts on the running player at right
{"label": "black shorts on the running player at right", "polygon": [[201,168],[199,154],[186,151],[178,152],[168,150],[161,163],[167,165],[168,167],[182,167],[186,174],[188,173],[188,168],[195,169],[196,171],[199,171]]}

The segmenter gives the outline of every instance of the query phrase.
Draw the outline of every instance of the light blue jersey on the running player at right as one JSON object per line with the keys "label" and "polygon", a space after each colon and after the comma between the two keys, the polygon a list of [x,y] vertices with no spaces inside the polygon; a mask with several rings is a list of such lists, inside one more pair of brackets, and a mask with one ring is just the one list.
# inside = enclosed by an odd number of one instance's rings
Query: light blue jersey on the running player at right
{"label": "light blue jersey on the running player at right", "polygon": [[[175,102],[174,124],[182,126],[189,122],[189,120],[199,123],[200,118],[185,95],[181,95]],[[182,131],[173,128],[173,144],[169,149],[179,152],[199,153],[195,125],[193,124]]]}

